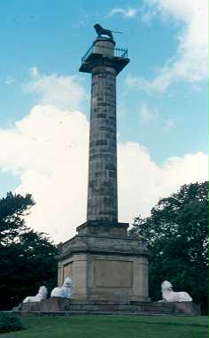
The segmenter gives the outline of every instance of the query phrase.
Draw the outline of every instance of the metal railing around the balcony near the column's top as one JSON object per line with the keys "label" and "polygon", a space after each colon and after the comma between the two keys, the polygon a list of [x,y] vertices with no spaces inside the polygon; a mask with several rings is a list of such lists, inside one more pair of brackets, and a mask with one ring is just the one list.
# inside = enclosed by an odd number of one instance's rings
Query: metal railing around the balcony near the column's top
{"label": "metal railing around the balcony near the column's top", "polygon": [[[98,52],[99,50],[99,52]],[[102,50],[102,52],[100,52]],[[128,58],[128,49],[124,48],[109,48],[106,46],[97,46],[95,44],[92,44],[87,50],[86,54],[81,58],[81,63],[83,64],[86,59],[89,57],[90,54],[102,54],[104,56],[108,57],[117,57],[117,58]]]}

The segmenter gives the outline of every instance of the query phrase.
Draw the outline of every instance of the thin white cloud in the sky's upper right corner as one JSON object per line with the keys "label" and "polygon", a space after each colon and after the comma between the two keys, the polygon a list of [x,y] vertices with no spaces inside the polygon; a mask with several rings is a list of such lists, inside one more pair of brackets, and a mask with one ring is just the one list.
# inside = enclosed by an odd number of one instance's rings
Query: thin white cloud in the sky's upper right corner
{"label": "thin white cloud in the sky's upper right corner", "polygon": [[[147,92],[164,92],[174,81],[202,81],[207,78],[209,30],[207,27],[208,1],[205,0],[144,0],[151,17],[182,22],[178,48],[174,58],[167,60],[152,80],[129,77],[128,85]],[[146,15],[146,12],[143,13]]]}

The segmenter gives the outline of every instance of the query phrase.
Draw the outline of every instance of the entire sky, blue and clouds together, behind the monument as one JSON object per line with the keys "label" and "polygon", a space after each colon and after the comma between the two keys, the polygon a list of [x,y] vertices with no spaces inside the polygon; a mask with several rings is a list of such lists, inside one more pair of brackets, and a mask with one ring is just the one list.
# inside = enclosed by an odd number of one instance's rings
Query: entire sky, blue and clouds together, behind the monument
{"label": "entire sky, blue and clouds together, behind the monument", "polygon": [[112,31],[130,63],[117,78],[119,220],[149,215],[208,180],[205,0],[8,0],[0,4],[0,196],[30,193],[27,225],[65,242],[86,221],[90,75],[81,57]]}

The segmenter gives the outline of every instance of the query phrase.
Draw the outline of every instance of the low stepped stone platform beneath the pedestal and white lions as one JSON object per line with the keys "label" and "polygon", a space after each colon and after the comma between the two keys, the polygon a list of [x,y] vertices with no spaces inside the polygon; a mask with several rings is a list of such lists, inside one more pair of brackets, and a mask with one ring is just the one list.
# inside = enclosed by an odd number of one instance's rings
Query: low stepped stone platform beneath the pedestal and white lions
{"label": "low stepped stone platform beneath the pedestal and white lions", "polygon": [[112,302],[112,301],[74,301],[68,298],[52,297],[34,306],[24,304],[19,314],[138,314],[138,315],[200,315],[200,306],[192,302]]}

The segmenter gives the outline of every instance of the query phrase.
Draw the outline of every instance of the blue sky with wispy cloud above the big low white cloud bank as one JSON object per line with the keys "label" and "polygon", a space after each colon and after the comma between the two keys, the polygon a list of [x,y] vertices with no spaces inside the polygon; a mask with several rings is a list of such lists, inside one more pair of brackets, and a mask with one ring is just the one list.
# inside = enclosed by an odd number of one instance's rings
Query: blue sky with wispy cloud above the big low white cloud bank
{"label": "blue sky with wispy cloud above the big low white cloud bank", "polygon": [[[119,142],[139,144],[159,167],[171,157],[206,154],[205,6],[204,0],[1,2],[1,194],[18,188],[28,169],[22,165],[17,170],[6,156],[7,147],[8,153],[16,147],[11,144],[15,123],[26,119],[36,104],[72,110],[62,95],[53,101],[56,88],[49,89],[50,81],[56,87],[56,81],[73,77],[81,89],[74,109],[89,120],[90,77],[78,69],[96,37],[97,22],[124,32],[115,34],[115,41],[128,47],[130,63],[118,77]],[[28,147],[30,157],[31,151]]]}

